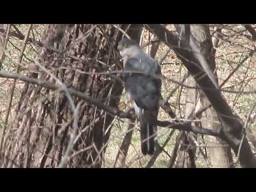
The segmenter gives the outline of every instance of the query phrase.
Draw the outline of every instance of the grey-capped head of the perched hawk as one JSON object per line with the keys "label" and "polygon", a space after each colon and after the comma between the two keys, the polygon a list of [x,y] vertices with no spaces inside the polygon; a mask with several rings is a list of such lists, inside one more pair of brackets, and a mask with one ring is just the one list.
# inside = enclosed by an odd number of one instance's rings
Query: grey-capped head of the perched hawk
{"label": "grey-capped head of the perched hawk", "polygon": [[120,52],[121,56],[130,55],[133,51],[137,51],[138,48],[140,49],[139,44],[129,38],[122,39],[117,46],[117,50]]}

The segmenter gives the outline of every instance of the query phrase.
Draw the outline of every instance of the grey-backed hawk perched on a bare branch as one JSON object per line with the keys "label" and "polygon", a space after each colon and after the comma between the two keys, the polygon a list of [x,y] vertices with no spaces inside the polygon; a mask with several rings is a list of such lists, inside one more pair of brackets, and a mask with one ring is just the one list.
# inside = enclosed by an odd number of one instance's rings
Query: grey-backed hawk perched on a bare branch
{"label": "grey-backed hawk perched on a bare branch", "polygon": [[132,103],[140,121],[142,153],[152,155],[161,98],[161,67],[132,39],[122,39],[117,49],[124,60],[125,102]]}

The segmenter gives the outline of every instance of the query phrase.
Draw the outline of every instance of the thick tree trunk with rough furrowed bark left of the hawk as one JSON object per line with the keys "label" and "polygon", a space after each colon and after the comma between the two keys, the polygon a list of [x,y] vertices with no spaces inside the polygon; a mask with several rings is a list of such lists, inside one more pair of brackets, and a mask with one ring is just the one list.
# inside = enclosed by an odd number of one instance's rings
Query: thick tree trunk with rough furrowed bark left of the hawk
{"label": "thick tree trunk with rough furrowed bark left of the hawk", "polygon": [[[133,38],[141,30],[137,25],[119,27]],[[121,38],[121,30],[112,25],[46,25],[36,60],[67,87],[117,107],[123,85],[114,75],[95,73],[122,69],[115,50]],[[55,83],[38,67],[31,67],[28,76]],[[78,132],[65,167],[100,167],[114,117],[82,99],[73,100],[79,106]],[[2,167],[57,167],[73,133],[66,95],[26,83],[16,111],[4,140]]]}

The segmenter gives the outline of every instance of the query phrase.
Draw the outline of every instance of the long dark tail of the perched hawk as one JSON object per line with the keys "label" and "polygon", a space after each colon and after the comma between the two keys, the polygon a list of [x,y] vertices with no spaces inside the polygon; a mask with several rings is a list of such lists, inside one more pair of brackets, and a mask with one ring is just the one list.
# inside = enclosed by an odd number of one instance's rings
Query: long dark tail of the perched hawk
{"label": "long dark tail of the perched hawk", "polygon": [[142,110],[140,114],[140,138],[143,155],[153,155],[155,151],[157,111]]}

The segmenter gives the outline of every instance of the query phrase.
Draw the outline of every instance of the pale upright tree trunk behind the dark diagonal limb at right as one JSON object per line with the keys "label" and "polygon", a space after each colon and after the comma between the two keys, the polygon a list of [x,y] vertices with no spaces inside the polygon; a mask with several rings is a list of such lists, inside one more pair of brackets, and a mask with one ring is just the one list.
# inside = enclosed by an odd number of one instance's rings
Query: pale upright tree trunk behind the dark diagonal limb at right
{"label": "pale upright tree trunk behind the dark diagonal limb at right", "polygon": [[[210,64],[212,71],[215,70],[215,55],[213,54],[213,45],[211,40],[211,34],[209,25],[191,25],[191,35],[196,39],[196,42],[201,47],[201,51],[205,54],[205,58]],[[217,73],[215,73],[217,77]],[[207,107],[210,105],[209,100],[201,91],[201,107]],[[221,129],[220,122],[216,111],[211,107],[206,109],[202,114],[202,126],[207,129],[219,130]],[[233,158],[231,155],[231,149],[226,142],[219,138],[212,137],[210,135],[205,136],[207,150],[209,151],[209,158],[212,167],[231,167]],[[222,147],[221,147],[222,146]]]}

